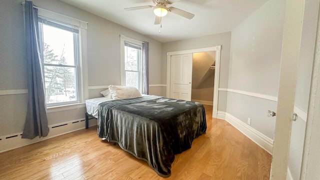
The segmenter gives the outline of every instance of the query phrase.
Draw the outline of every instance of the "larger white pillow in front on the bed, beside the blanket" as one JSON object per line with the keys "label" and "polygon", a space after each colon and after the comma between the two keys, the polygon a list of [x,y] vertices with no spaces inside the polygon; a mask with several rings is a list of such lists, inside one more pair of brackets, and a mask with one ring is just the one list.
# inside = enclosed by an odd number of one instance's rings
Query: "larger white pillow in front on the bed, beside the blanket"
{"label": "larger white pillow in front on the bed, beside the blanket", "polygon": [[109,85],[109,92],[112,99],[141,97],[139,90],[131,86]]}

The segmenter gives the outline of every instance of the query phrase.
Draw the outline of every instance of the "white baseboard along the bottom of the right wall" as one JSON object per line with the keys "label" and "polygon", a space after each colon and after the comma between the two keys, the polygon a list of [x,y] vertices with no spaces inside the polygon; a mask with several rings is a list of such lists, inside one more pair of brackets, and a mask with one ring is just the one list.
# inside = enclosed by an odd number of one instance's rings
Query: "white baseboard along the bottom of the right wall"
{"label": "white baseboard along the bottom of the right wall", "polygon": [[217,118],[226,120],[240,132],[242,132],[245,136],[255,142],[258,146],[266,150],[269,154],[272,154],[273,140],[269,137],[265,136],[261,132],[255,130],[248,124],[242,122],[240,119],[227,112],[218,111]]}

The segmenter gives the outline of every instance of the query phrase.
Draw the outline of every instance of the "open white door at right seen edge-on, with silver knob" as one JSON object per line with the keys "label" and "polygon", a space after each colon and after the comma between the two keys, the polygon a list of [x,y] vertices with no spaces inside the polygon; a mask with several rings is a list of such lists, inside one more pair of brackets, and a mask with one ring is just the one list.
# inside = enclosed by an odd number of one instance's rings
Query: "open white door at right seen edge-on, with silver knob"
{"label": "open white door at right seen edge-on, with silver knob", "polygon": [[305,0],[286,0],[270,179],[286,179]]}

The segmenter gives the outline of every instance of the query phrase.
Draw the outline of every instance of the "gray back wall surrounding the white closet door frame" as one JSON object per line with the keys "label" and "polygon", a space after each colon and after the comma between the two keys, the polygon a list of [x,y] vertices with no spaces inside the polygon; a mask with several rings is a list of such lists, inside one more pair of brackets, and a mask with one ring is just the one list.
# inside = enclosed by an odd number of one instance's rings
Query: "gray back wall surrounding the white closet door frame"
{"label": "gray back wall surrounding the white closet door frame", "polygon": [[[231,32],[211,34],[197,38],[190,38],[163,43],[162,46],[162,83],[166,84],[166,53],[178,50],[188,50],[203,47],[221,45],[219,88],[228,86],[228,68],[230,55]],[[220,111],[226,111],[226,93],[219,92],[218,107]]]}

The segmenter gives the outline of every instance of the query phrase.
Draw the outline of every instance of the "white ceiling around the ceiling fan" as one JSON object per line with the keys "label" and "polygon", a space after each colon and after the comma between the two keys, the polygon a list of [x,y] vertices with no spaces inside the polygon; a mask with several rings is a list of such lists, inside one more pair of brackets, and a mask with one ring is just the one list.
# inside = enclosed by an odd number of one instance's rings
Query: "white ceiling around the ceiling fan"
{"label": "white ceiling around the ceiling fan", "polygon": [[[160,42],[231,31],[267,0],[174,0],[167,5],[195,14],[187,19],[172,12],[154,25],[153,9],[125,11],[126,7],[153,5],[152,0],[61,0],[145,34]],[[160,32],[159,32],[160,29]]]}

